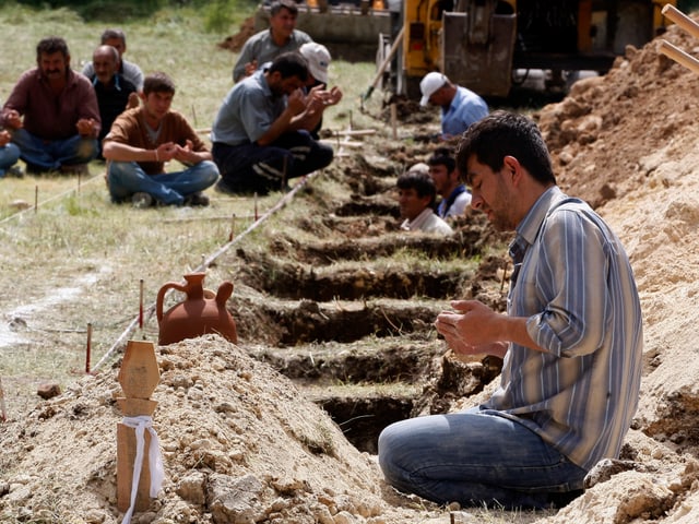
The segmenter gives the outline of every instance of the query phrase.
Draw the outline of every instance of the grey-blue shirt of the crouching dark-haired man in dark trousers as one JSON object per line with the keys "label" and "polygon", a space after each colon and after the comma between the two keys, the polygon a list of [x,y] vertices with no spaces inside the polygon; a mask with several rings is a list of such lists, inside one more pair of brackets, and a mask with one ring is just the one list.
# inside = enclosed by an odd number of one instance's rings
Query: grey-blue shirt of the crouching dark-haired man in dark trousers
{"label": "grey-blue shirt of the crouching dark-haired man in dark trousers", "polygon": [[238,82],[224,97],[211,128],[211,141],[240,145],[262,136],[286,108],[286,96],[270,90],[263,71]]}

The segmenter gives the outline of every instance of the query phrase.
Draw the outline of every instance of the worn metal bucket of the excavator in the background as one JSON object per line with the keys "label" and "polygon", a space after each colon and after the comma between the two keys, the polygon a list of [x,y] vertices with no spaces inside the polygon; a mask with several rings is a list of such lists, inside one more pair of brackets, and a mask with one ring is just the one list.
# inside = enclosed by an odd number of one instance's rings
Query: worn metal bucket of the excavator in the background
{"label": "worn metal bucket of the excavator in the background", "polygon": [[506,97],[512,83],[517,15],[490,12],[494,2],[474,3],[479,7],[442,14],[439,69],[475,93]]}

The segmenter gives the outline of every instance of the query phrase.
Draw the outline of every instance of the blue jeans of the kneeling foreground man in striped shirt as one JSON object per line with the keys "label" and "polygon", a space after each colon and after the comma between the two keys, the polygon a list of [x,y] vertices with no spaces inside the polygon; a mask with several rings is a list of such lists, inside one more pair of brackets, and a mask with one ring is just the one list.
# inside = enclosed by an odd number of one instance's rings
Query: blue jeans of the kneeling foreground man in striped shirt
{"label": "blue jeans of the kneeling foreground man in striped shirt", "polygon": [[550,493],[582,489],[587,474],[526,426],[479,407],[390,425],[379,464],[401,491],[506,508],[548,508]]}

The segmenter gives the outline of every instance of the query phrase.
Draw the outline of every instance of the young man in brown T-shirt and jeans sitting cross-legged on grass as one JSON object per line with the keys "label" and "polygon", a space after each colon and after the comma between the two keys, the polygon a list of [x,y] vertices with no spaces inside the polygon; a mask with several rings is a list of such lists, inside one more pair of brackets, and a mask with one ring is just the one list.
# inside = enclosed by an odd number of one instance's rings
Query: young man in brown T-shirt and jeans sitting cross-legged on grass
{"label": "young man in brown T-shirt and jeans sitting cross-legged on grass", "polygon": [[[202,191],[214,184],[218,169],[185,117],[170,109],[174,96],[169,76],[150,74],[141,107],[114,121],[103,144],[112,202],[131,201],[134,207],[209,205]],[[186,168],[165,172],[165,163],[173,159]]]}

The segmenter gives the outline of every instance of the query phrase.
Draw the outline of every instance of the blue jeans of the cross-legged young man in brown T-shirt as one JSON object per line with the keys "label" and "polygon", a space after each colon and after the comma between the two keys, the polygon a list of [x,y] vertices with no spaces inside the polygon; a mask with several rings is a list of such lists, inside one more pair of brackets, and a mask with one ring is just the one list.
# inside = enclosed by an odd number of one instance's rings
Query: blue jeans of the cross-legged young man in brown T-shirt
{"label": "blue jeans of the cross-legged young man in brown T-shirt", "polygon": [[203,191],[218,179],[213,162],[203,160],[183,171],[146,175],[135,162],[110,162],[109,194],[112,202],[123,202],[133,193],[149,193],[167,205],[181,205],[188,194]]}

